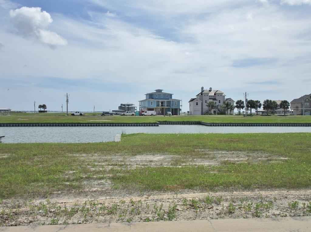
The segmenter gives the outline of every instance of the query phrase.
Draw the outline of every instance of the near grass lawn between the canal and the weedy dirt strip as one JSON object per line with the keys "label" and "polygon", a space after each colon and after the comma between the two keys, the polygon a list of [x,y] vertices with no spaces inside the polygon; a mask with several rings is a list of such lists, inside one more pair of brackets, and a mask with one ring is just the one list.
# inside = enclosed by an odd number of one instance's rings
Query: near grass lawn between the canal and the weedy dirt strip
{"label": "near grass lawn between the canal and the weedy dirt strip", "polygon": [[[234,159],[241,152],[247,157],[242,162]],[[171,157],[171,164],[128,165],[137,156],[159,155]],[[98,180],[134,191],[309,188],[310,155],[311,133],[128,134],[109,143],[0,144],[0,198],[84,190],[83,183]],[[187,164],[220,158],[215,165]]]}

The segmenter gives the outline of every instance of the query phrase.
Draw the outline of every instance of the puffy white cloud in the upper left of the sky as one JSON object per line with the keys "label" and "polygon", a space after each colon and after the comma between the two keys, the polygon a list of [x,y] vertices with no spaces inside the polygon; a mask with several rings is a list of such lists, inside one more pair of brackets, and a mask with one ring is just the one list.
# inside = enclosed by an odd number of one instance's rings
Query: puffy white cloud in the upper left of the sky
{"label": "puffy white cloud in the upper left of the sky", "polygon": [[12,24],[25,37],[34,37],[51,47],[67,45],[67,40],[55,32],[46,30],[53,22],[51,15],[40,7],[21,7],[10,10]]}

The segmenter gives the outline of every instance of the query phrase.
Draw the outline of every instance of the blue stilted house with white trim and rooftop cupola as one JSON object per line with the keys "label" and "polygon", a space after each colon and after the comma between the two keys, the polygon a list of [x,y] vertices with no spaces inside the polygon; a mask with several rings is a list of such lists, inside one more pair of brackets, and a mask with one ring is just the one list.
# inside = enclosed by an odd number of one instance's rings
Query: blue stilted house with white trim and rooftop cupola
{"label": "blue stilted house with white trim and rooftop cupola", "polygon": [[179,115],[180,101],[173,98],[173,93],[164,93],[163,89],[156,89],[153,93],[146,93],[146,99],[139,101],[139,110],[154,110],[157,115]]}

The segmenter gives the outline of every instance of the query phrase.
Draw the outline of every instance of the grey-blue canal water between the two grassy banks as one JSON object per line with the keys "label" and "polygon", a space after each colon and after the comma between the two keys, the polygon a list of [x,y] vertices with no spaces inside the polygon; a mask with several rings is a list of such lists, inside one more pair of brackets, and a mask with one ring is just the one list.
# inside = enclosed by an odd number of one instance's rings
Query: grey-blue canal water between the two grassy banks
{"label": "grey-blue canal water between the two grassy banks", "polygon": [[311,127],[288,126],[56,126],[0,127],[2,143],[95,143],[114,141],[116,134],[197,134],[197,133],[298,133],[311,132]]}

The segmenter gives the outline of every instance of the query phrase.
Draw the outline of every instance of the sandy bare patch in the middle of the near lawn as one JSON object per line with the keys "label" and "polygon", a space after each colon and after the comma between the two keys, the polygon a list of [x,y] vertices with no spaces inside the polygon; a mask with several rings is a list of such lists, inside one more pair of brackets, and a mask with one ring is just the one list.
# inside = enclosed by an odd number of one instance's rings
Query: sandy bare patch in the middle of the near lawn
{"label": "sandy bare patch in the middle of the near lawn", "polygon": [[83,159],[94,161],[92,169],[106,169],[111,168],[130,168],[135,169],[139,167],[181,167],[184,165],[206,165],[219,166],[223,162],[235,163],[258,163],[258,162],[279,162],[286,160],[286,157],[273,156],[267,153],[248,153],[248,152],[225,152],[225,151],[209,151],[197,150],[197,156],[181,156],[169,154],[143,154],[136,156],[128,155],[101,155],[101,154],[77,154]]}

